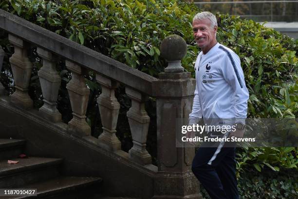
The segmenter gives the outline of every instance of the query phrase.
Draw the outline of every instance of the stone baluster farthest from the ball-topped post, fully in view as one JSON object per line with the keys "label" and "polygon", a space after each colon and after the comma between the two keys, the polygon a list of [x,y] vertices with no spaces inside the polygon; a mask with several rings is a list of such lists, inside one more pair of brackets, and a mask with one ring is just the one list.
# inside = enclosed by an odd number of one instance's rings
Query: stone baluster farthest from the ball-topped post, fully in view
{"label": "stone baluster farthest from the ball-topped post, fully in view", "polygon": [[9,59],[16,88],[16,91],[11,95],[11,101],[21,108],[31,109],[33,108],[33,100],[28,95],[28,87],[32,63],[27,57],[27,49],[30,45],[13,35],[9,35],[8,39],[15,46],[15,53]]}

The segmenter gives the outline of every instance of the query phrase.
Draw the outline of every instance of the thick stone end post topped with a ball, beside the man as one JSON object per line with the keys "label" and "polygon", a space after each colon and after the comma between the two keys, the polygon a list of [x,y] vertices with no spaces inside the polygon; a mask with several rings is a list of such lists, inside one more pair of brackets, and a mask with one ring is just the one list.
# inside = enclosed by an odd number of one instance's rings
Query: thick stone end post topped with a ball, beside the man
{"label": "thick stone end post topped with a ball, beside the man", "polygon": [[168,61],[165,73],[153,81],[156,97],[158,174],[154,179],[154,199],[202,199],[199,182],[192,174],[194,148],[176,146],[181,126],[187,125],[191,112],[195,80],[185,73],[181,60],[186,42],[177,35],[161,44],[162,56]]}

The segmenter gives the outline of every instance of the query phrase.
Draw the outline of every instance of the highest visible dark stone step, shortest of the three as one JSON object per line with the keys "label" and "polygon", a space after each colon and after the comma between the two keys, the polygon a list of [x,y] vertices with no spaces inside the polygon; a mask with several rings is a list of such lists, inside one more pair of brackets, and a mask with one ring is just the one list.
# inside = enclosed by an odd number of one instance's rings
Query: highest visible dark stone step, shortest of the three
{"label": "highest visible dark stone step, shortest of the three", "polygon": [[0,139],[0,160],[18,158],[25,143],[26,140],[23,139]]}

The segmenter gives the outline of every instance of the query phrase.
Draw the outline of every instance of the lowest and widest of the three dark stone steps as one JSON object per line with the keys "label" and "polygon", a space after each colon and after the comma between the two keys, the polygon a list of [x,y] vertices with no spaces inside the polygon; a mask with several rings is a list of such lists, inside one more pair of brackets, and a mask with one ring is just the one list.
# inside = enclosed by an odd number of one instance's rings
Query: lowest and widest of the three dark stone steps
{"label": "lowest and widest of the three dark stone steps", "polygon": [[10,197],[10,199],[93,199],[93,192],[100,190],[98,185],[101,181],[101,178],[92,177],[58,177],[21,187],[37,189],[37,196]]}

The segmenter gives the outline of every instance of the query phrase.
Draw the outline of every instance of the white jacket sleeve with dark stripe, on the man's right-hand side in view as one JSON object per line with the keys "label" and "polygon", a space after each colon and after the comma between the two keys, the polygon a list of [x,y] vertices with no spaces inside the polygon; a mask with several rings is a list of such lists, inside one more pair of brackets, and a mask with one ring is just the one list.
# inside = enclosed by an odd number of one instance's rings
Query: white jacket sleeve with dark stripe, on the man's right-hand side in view
{"label": "white jacket sleeve with dark stripe, on the man's right-hand side in view", "polygon": [[229,52],[225,60],[226,67],[223,68],[223,77],[235,92],[234,107],[236,123],[245,124],[249,93],[245,85],[240,59],[234,52]]}

